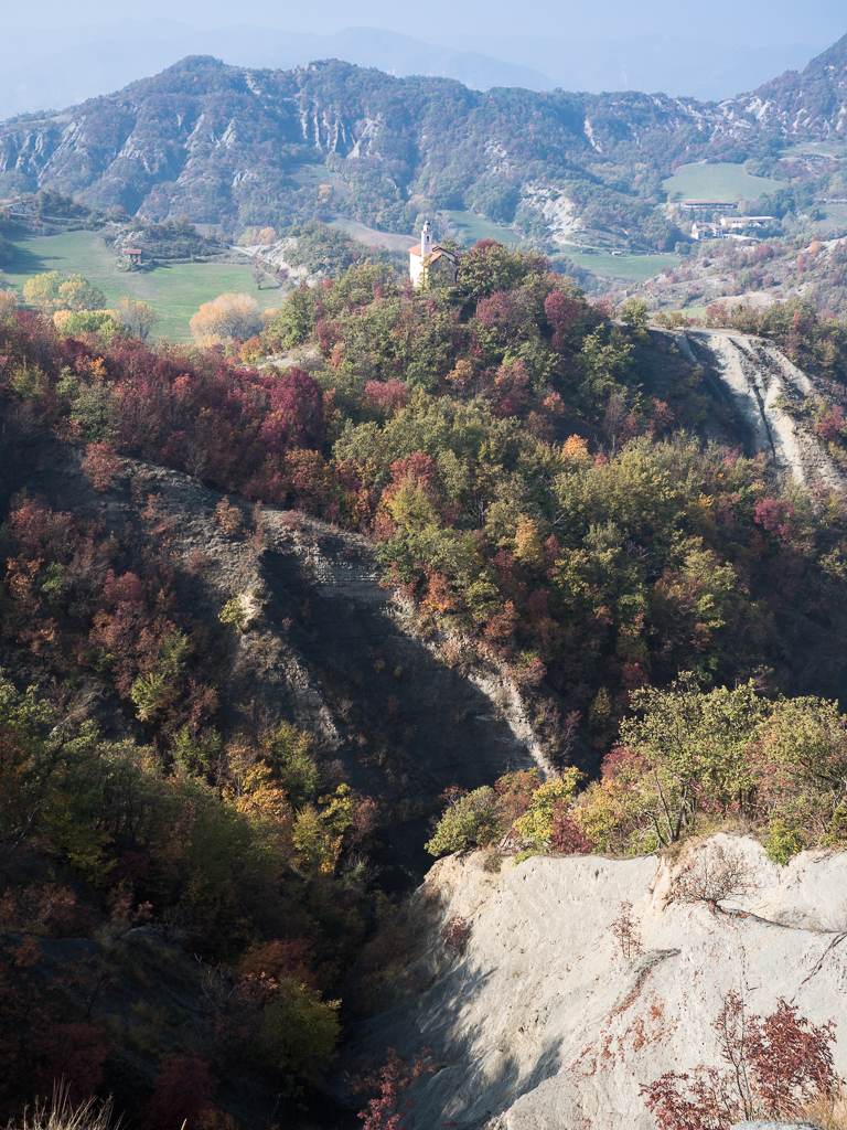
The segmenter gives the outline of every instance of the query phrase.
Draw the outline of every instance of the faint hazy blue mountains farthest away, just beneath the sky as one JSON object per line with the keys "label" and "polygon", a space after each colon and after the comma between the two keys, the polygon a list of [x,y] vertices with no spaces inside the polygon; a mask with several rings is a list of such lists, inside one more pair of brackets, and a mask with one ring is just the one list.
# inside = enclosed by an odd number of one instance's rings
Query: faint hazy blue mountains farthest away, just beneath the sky
{"label": "faint hazy blue mountains farthest away, just beneath the sky", "polygon": [[447,35],[414,38],[350,27],[333,35],[248,24],[197,28],[167,19],[122,19],[66,28],[5,28],[0,119],[108,94],[190,54],[238,67],[287,70],[343,59],[390,75],[454,78],[475,90],[662,90],[728,98],[774,75],[802,69],[826,44],[698,43],[663,35],[623,40]]}

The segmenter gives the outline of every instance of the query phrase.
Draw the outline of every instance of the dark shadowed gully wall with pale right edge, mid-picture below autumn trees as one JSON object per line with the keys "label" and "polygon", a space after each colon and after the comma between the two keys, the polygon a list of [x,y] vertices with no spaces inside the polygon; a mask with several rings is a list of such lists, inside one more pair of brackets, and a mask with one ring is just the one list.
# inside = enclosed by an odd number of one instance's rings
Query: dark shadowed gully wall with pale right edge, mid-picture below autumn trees
{"label": "dark shadowed gully wall with pale right edge, mid-picture below autumn trees", "polygon": [[474,789],[506,768],[548,768],[519,695],[494,664],[414,634],[410,609],[381,585],[373,547],[314,519],[264,511],[260,570],[269,626],[288,644],[333,718],[335,756],[392,814],[390,837],[422,875],[428,819],[449,784]]}

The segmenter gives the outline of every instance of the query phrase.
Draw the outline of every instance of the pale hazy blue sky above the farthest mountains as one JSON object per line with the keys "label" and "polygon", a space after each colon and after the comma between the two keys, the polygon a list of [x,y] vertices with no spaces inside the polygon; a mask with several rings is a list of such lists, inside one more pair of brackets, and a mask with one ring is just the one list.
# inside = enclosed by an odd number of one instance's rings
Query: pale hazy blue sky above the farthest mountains
{"label": "pale hazy blue sky above the farthest mountains", "polygon": [[844,0],[0,0],[0,27],[59,27],[166,17],[198,27],[253,24],[328,34],[346,27],[382,27],[419,38],[451,34],[553,35],[562,38],[626,38],[640,33],[745,44],[831,43],[847,32]]}

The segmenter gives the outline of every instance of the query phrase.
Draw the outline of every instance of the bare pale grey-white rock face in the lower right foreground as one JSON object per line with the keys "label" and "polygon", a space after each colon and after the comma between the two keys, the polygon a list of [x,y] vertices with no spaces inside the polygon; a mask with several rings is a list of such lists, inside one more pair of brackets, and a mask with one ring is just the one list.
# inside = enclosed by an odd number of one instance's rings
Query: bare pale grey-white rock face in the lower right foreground
{"label": "bare pale grey-white rock face in the lower right foreground", "polygon": [[[784,998],[833,1020],[847,1075],[847,853],[779,867],[724,834],[697,851],[717,849],[745,888],[721,903],[731,913],[672,899],[679,864],[655,857],[535,857],[499,873],[481,852],[439,860],[413,896],[416,949],[351,1058],[433,1049],[416,1130],[654,1130],[641,1087],[722,1066],[713,1023],[734,990],[752,1014]],[[629,956],[613,932],[626,902],[640,935]],[[459,956],[442,938],[455,915],[470,928]]]}

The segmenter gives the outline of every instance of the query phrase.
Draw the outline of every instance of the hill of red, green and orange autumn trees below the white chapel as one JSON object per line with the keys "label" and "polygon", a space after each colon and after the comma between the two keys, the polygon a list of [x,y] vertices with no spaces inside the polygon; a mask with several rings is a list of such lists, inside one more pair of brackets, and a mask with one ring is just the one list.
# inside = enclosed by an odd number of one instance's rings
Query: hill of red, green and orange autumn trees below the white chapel
{"label": "hill of red, green and orange autumn trees below the white chapel", "polygon": [[[840,373],[842,334],[802,315],[771,332]],[[683,363],[650,392],[643,312],[632,329],[605,321],[539,257],[479,244],[457,295],[375,266],[302,286],[242,356],[312,348],[312,372],[120,337],[93,355],[15,319],[10,392],[59,434],[106,464],[159,462],[363,530],[425,620],[564,694],[600,740],[648,680],[772,667],[763,598],[811,609],[840,583],[835,496],[821,511],[760,459],[681,434],[710,411],[701,370]]]}

